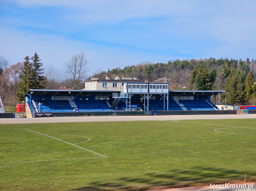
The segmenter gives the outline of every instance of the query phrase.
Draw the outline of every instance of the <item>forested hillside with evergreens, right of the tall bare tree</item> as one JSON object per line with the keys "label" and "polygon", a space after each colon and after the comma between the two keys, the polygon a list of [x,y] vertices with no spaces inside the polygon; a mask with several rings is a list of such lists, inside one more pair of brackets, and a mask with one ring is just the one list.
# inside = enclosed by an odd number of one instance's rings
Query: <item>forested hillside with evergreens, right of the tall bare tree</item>
{"label": "forested hillside with evergreens, right of the tall bare tree", "polygon": [[216,102],[256,104],[256,61],[233,58],[170,60],[168,63],[141,62],[137,65],[95,71],[99,79],[136,76],[146,82],[169,83],[171,90],[225,90]]}

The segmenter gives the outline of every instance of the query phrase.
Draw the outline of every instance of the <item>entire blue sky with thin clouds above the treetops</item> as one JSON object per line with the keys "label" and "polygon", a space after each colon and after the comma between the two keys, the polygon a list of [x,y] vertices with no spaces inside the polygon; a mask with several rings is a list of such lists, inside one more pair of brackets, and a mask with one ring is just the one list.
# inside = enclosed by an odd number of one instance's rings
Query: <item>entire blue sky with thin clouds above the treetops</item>
{"label": "entire blue sky with thin clouds above the treetops", "polygon": [[0,54],[62,68],[84,51],[92,72],[142,61],[256,58],[256,1],[0,0]]}

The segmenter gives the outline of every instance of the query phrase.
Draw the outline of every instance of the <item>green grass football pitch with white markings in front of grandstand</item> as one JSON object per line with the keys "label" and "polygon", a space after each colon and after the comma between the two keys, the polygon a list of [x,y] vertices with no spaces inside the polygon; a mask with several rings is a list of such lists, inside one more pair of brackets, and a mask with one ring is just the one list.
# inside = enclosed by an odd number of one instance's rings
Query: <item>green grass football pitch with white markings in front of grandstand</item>
{"label": "green grass football pitch with white markings in front of grandstand", "polygon": [[[255,122],[0,125],[0,190],[147,190],[256,177]],[[166,184],[175,182],[183,183]]]}

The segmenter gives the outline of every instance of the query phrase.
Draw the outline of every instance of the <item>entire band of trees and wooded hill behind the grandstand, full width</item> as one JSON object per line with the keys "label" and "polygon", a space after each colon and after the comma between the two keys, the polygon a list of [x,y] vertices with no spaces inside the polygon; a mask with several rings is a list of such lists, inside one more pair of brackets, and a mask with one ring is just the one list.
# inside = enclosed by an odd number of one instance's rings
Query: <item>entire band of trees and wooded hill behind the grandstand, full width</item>
{"label": "entire band of trees and wooded hill behind the grandstand, full width", "polygon": [[0,96],[4,105],[15,106],[25,98],[29,89],[83,89],[90,77],[99,79],[116,76],[136,76],[146,82],[169,83],[171,90],[225,90],[217,95],[217,102],[236,105],[256,104],[256,61],[233,58],[205,58],[170,60],[168,63],[141,62],[137,65],[97,69],[88,76],[88,60],[83,52],[73,55],[61,70],[53,66],[43,68],[39,55],[26,56],[24,61],[10,66],[0,55]]}

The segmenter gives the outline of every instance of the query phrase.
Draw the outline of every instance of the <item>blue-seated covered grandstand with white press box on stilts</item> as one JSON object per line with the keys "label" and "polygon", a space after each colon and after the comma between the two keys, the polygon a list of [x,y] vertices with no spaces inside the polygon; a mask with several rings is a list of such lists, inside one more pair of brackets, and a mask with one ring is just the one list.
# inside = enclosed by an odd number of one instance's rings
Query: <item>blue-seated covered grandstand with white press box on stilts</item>
{"label": "blue-seated covered grandstand with white press box on stilts", "polygon": [[211,96],[224,92],[169,91],[168,84],[156,83],[131,82],[123,86],[121,91],[30,89],[25,94],[26,106],[31,117],[39,112],[219,110],[210,101]]}

